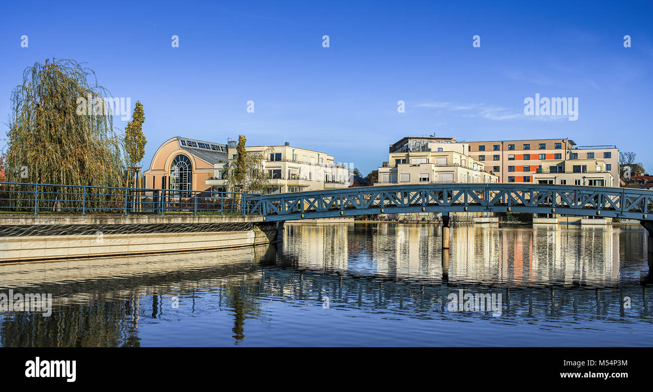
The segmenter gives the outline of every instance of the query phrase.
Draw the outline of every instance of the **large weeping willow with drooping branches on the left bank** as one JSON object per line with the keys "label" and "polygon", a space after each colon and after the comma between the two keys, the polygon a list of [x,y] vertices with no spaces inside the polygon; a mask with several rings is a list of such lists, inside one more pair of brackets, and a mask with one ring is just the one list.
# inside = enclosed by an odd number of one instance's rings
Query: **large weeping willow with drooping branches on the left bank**
{"label": "large weeping willow with drooping branches on the left bank", "polygon": [[113,127],[114,101],[105,97],[95,73],[74,60],[27,67],[10,99],[7,181],[123,186],[123,143]]}

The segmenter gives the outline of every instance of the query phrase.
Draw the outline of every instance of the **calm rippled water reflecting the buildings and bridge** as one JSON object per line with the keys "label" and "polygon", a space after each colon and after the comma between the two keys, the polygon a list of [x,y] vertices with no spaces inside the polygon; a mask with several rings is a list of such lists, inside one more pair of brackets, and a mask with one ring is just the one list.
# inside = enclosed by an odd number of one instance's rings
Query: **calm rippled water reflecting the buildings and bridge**
{"label": "calm rippled water reflecting the buildings and bridge", "polygon": [[2,292],[54,302],[0,313],[0,345],[653,345],[639,226],[452,235],[447,255],[436,225],[287,224],[279,247],[0,266]]}

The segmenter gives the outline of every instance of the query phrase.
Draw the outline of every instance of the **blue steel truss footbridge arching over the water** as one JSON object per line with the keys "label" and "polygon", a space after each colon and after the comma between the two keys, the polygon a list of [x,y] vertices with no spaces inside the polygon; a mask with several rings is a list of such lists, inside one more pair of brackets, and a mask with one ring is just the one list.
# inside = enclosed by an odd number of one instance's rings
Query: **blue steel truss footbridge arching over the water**
{"label": "blue steel truss footbridge arching over the water", "polygon": [[653,223],[653,191],[542,184],[424,184],[252,195],[266,221],[410,212],[527,212]]}

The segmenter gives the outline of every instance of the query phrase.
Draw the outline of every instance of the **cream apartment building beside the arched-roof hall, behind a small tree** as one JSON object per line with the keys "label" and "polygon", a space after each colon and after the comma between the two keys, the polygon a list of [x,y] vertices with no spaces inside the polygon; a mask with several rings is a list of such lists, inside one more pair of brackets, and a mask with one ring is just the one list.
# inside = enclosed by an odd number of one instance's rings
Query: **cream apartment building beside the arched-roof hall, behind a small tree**
{"label": "cream apartment building beside the arched-roof hall, behind a small tree", "polygon": [[[342,189],[349,187],[349,169],[345,163],[335,163],[333,155],[298,148],[285,142],[283,146],[246,146],[249,153],[265,156],[264,169],[269,186],[265,193]],[[236,157],[236,142],[228,142],[227,156]],[[227,190],[228,161],[214,164],[214,175],[206,185],[214,191]]]}

